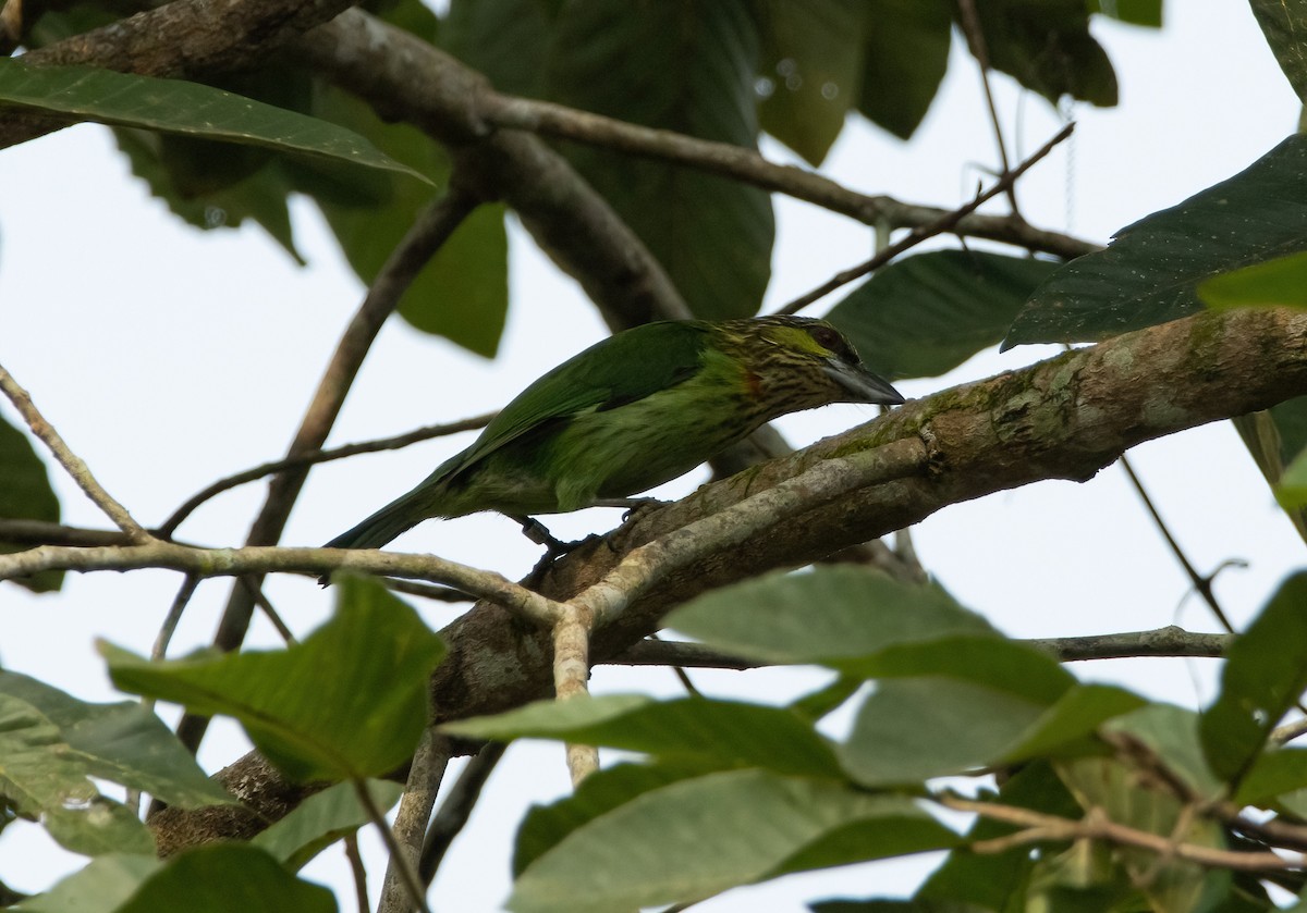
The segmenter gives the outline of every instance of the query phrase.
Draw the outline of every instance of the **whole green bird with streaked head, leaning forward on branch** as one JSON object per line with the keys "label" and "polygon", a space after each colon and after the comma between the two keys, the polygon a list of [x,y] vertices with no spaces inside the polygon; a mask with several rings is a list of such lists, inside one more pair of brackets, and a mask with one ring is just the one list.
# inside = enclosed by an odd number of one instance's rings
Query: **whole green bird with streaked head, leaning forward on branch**
{"label": "whole green bird with streaked head, leaning forward on branch", "polygon": [[540,377],[471,447],[324,547],[379,549],[429,517],[524,517],[627,498],[763,422],[829,402],[903,397],[823,320],[644,324]]}

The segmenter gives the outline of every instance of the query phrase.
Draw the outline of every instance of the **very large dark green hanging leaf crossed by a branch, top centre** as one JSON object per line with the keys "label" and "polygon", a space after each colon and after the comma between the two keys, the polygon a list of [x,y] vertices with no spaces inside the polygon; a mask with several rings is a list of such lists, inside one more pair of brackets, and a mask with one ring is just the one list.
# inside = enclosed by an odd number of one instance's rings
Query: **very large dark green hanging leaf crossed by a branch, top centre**
{"label": "very large dark green hanging leaf crossed by a branch, top centre", "polygon": [[[562,103],[754,148],[759,40],[745,0],[566,4],[549,63]],[[770,197],[694,168],[591,148],[569,155],[699,317],[755,313],[771,272]]]}

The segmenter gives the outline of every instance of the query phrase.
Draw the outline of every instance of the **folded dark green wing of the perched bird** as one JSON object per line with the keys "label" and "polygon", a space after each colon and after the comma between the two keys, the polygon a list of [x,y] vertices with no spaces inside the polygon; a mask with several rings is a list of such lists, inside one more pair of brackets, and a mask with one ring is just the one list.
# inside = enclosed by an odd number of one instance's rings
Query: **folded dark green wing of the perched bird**
{"label": "folded dark green wing of the perched bird", "polygon": [[644,324],[595,344],[538,377],[463,453],[437,468],[447,478],[536,428],[616,409],[693,377],[708,328],[694,320]]}

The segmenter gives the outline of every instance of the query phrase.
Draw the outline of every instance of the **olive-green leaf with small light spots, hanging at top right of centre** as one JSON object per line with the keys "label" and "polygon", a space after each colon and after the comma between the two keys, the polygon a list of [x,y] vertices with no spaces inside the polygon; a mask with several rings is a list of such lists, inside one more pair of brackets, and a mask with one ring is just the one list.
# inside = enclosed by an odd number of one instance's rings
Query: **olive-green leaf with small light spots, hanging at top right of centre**
{"label": "olive-green leaf with small light spots, hanging at top right of centre", "polygon": [[818,166],[863,81],[861,0],[762,0],[762,128]]}

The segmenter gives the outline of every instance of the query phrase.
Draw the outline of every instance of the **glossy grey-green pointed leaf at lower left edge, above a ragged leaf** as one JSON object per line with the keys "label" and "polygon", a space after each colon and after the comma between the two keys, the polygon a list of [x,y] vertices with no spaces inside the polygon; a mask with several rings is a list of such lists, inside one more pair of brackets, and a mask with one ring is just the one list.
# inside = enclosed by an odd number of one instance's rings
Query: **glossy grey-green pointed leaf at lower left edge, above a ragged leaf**
{"label": "glossy grey-green pointed leaf at lower left edge, above a ragged leaf", "polygon": [[197,809],[235,802],[205,776],[163,721],[135,701],[88,704],[59,688],[0,670],[0,694],[24,700],[59,729],[64,756],[86,775]]}

